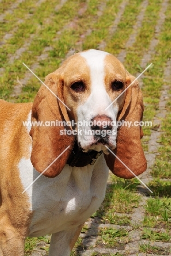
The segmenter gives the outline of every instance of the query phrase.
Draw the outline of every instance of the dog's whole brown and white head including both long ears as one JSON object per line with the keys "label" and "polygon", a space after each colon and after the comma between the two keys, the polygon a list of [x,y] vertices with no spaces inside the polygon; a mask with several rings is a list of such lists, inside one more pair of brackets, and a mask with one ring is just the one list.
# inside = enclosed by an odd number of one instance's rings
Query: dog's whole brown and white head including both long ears
{"label": "dog's whole brown and white head including both long ears", "polygon": [[[128,129],[126,126],[117,131],[115,123],[116,120],[139,122],[143,117],[143,100],[134,79],[115,56],[104,51],[74,54],[46,77],[45,84],[57,98],[42,85],[33,103],[32,121],[74,120],[76,139],[82,150],[103,150],[111,171],[117,176],[132,178],[107,147],[115,150],[117,157],[136,175],[146,170],[140,143],[141,127]],[[39,172],[70,146],[56,164],[48,167],[44,173],[48,177],[62,171],[74,145],[73,133],[61,136],[61,129],[64,127],[34,126],[30,132],[33,139],[31,161]]]}

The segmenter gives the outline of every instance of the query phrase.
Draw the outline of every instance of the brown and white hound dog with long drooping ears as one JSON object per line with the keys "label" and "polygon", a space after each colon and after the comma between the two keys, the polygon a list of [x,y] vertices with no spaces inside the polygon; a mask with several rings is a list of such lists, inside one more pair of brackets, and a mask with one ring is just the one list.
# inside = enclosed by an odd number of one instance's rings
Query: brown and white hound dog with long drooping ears
{"label": "brown and white hound dog with long drooping ears", "polygon": [[0,101],[1,256],[23,256],[27,236],[46,234],[50,256],[69,256],[104,199],[108,170],[146,170],[141,127],[122,122],[143,116],[133,81],[116,57],[87,50],[49,74],[33,103]]}

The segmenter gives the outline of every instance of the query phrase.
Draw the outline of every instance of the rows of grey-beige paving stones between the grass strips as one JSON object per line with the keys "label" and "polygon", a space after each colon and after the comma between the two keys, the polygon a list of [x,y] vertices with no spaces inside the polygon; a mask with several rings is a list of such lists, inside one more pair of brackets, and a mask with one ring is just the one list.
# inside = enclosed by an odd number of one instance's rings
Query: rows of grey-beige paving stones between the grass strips
{"label": "rows of grey-beige paving stones between the grass strips", "polygon": [[[7,4],[7,7],[5,5],[3,13],[0,14],[0,24],[4,24],[5,22],[7,22],[5,17],[9,14],[11,16],[15,14],[15,11],[17,10],[17,8],[20,8],[20,4],[24,3],[25,1],[26,0],[16,0],[16,1],[10,0],[9,6],[8,4]],[[3,49],[4,45],[8,44],[11,38],[13,38],[14,34],[17,32],[18,26],[20,26],[24,22],[24,20],[32,19],[34,12],[39,7],[41,7],[42,4],[44,4],[46,1],[47,0],[35,1],[35,3],[32,4],[31,10],[25,15],[25,18],[21,18],[21,19],[17,17],[15,18],[16,26],[11,25],[11,30],[8,31],[7,33],[4,33],[3,36],[0,38],[0,51],[1,49]],[[56,1],[54,5],[54,10],[56,11],[56,13],[60,12],[68,1],[69,0]],[[7,3],[8,1],[0,0],[0,4],[1,2]],[[88,3],[90,1],[80,0],[78,2],[80,4],[80,8],[78,10],[77,15],[75,15],[75,17],[72,20],[68,21],[68,23],[66,22],[66,24],[61,28],[61,30],[56,32],[56,35],[52,39],[53,44],[54,42],[57,44],[57,42],[60,41],[62,34],[64,34],[66,31],[70,30],[71,28],[73,29],[75,28],[75,31],[77,31],[77,29],[79,28],[80,26],[80,25],[78,26],[79,19],[85,15],[87,11]],[[104,10],[107,7],[109,0],[104,0],[104,1],[101,0],[98,2],[99,3],[97,5],[97,13],[95,16],[93,16],[90,27],[86,27],[85,31],[81,32],[78,38],[75,39],[74,46],[72,45],[70,46],[69,50],[66,50],[66,53],[64,57],[62,57],[61,62],[67,57],[69,57],[70,55],[77,52],[78,50],[82,50],[82,45],[84,45],[86,38],[91,36],[91,34],[95,32],[95,25],[97,24],[98,20],[103,17]],[[112,40],[114,34],[116,33],[117,28],[119,27],[119,24],[123,18],[123,14],[128,4],[131,2],[131,0],[123,0],[123,1],[116,1],[116,2],[119,2],[119,7],[117,9],[117,13],[115,14],[114,21],[108,27],[108,42]],[[127,54],[132,50],[134,43],[136,42],[136,39],[139,36],[139,30],[141,26],[143,26],[145,11],[146,11],[146,8],[148,8],[148,6],[150,5],[150,3],[151,3],[150,0],[141,1],[140,11],[135,18],[134,25],[132,26],[133,30],[129,34],[129,37],[125,42],[125,45],[121,47],[121,49],[119,50],[119,53],[117,54],[118,59],[123,63],[125,62]],[[158,2],[156,2],[156,4],[158,4]],[[141,68],[145,68],[146,66],[148,66],[149,63],[151,62],[152,56],[159,54],[156,50],[156,46],[159,43],[159,37],[163,28],[164,21],[166,20],[165,13],[169,8],[169,6],[170,6],[169,0],[161,1],[161,8],[158,13],[158,19],[155,25],[155,32],[150,40],[148,48],[144,50],[143,56],[141,57],[141,60],[139,63],[139,66]],[[46,17],[45,20],[43,20],[42,24],[37,25],[36,31],[34,31],[34,33],[30,33],[30,36],[28,36],[23,40],[23,44],[21,43],[20,46],[17,49],[15,49],[14,52],[9,51],[9,53],[7,54],[7,63],[9,63],[9,66],[10,65],[14,66],[17,60],[20,60],[20,59],[22,60],[23,54],[25,54],[27,51],[28,52],[31,51],[30,46],[33,43],[34,37],[36,37],[38,33],[40,33],[45,29],[46,24],[51,24],[52,20],[53,20],[52,15],[49,15],[48,18]],[[101,42],[98,42],[97,45],[95,45],[94,48],[105,50],[107,48],[108,42],[105,38],[103,38]],[[54,48],[52,48],[51,45],[44,46],[42,52],[36,55],[34,63],[32,63],[32,65],[30,66],[33,72],[36,72],[38,68],[41,67],[42,62],[49,57],[49,52],[53,50]],[[145,152],[146,160],[148,161],[148,168],[146,172],[140,177],[141,181],[143,181],[145,184],[148,184],[152,180],[151,168],[152,166],[154,166],[155,158],[158,155],[158,147],[160,147],[158,138],[160,138],[162,135],[161,122],[162,122],[162,119],[166,117],[166,114],[167,114],[166,104],[169,101],[169,98],[171,97],[169,95],[170,78],[171,78],[170,66],[171,66],[171,59],[168,59],[164,68],[164,75],[163,75],[164,81],[163,81],[162,90],[161,90],[159,108],[153,120],[153,124],[155,127],[157,127],[157,129],[154,129],[151,131],[150,140],[148,141],[148,151]],[[1,76],[3,75],[4,71],[5,71],[5,68],[3,66],[2,67],[0,66]],[[139,75],[139,73],[137,73],[137,75]],[[13,90],[11,91],[11,94],[9,96],[10,101],[15,101],[17,97],[20,96],[20,94],[22,93],[23,87],[27,86],[31,77],[32,77],[32,74],[26,71],[22,75],[22,78],[20,80],[19,78],[16,79],[16,82],[14,83],[14,86],[13,86]],[[145,74],[142,75],[139,79],[139,84],[141,88],[143,88],[144,77],[145,77]],[[155,77],[153,79],[155,79]],[[5,100],[8,100],[8,99],[5,98]],[[109,181],[107,186],[111,184],[110,176],[111,174],[109,174]],[[167,181],[171,181],[171,179],[167,179]],[[171,253],[169,253],[171,251],[170,242],[160,242],[160,241],[151,242],[148,239],[146,240],[141,239],[141,228],[143,226],[142,222],[145,214],[145,205],[146,205],[146,200],[149,199],[150,193],[149,193],[149,190],[146,189],[143,185],[138,185],[137,193],[140,195],[140,199],[141,199],[138,207],[134,208],[132,213],[124,213],[124,214],[117,213],[117,216],[122,217],[124,215],[131,218],[131,222],[129,223],[129,225],[105,224],[105,223],[102,223],[101,218],[98,218],[98,217],[90,218],[85,223],[86,231],[80,234],[80,238],[82,239],[82,242],[81,242],[82,246],[80,248],[78,247],[78,249],[75,252],[75,256],[171,255]],[[137,226],[138,228],[135,228]],[[125,245],[117,246],[116,248],[110,248],[110,247],[106,248],[104,246],[97,245],[100,228],[114,228],[114,229],[124,228],[125,230],[129,231],[129,237],[128,237],[127,243],[125,243]],[[152,228],[151,230],[157,231],[158,229]],[[164,229],[160,229],[160,230],[165,231]],[[50,238],[50,235],[46,236],[46,238]],[[145,244],[159,248],[157,254],[153,254],[150,252],[141,253],[139,251],[139,245],[145,245]],[[36,248],[33,249],[33,252],[30,254],[30,256],[39,256],[39,255],[47,256],[48,249],[49,249],[49,243],[40,241],[37,243]],[[61,255],[61,256],[65,256],[65,255]]]}

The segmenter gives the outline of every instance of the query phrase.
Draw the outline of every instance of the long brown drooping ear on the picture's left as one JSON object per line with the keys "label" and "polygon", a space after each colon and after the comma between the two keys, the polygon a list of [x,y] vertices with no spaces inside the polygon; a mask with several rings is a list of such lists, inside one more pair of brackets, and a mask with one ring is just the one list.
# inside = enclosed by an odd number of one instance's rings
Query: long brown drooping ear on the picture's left
{"label": "long brown drooping ear on the picture's left", "polygon": [[[58,96],[57,91],[62,91],[62,80],[56,72],[46,77],[45,84],[56,96]],[[64,132],[64,129],[70,130],[71,128],[65,127],[62,123],[62,121],[69,120],[66,107],[62,103],[59,104],[58,98],[51,91],[44,85],[40,87],[33,102],[32,121],[42,122],[42,126],[34,125],[30,131],[33,140],[32,165],[38,172],[43,172],[43,175],[47,177],[55,177],[60,174],[74,144],[74,136],[67,135]],[[63,101],[61,97],[62,92],[60,99]],[[66,135],[63,135],[63,133],[66,133]],[[66,152],[51,165],[68,146],[70,147]],[[47,170],[44,172],[46,168]]]}

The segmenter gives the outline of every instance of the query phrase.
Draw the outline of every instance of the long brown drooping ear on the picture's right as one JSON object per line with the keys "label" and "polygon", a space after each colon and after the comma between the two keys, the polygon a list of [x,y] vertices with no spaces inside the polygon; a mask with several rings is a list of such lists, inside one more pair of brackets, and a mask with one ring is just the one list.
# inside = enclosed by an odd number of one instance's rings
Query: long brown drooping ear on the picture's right
{"label": "long brown drooping ear on the picture's right", "polygon": [[[135,79],[131,74],[127,74],[126,87]],[[139,84],[135,81],[126,90],[125,103],[117,115],[117,120],[126,121],[127,126],[125,123],[117,131],[114,153],[137,176],[146,170],[146,159],[140,142],[141,137],[143,137],[143,130],[139,126],[139,122],[143,118],[143,111],[143,98]],[[134,123],[135,121],[137,123]],[[131,124],[130,127],[128,127],[128,122],[132,122],[129,123]],[[105,155],[109,169],[116,176],[126,179],[133,178],[134,175],[117,158],[111,153]]]}

